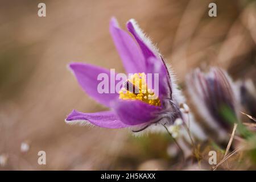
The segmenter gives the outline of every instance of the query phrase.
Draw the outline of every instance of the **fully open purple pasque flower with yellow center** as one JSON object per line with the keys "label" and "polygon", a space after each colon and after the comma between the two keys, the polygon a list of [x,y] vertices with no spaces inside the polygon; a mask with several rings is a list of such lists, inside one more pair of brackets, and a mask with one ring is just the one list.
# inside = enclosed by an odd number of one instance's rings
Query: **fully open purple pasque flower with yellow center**
{"label": "fully open purple pasque flower with yellow center", "polygon": [[[139,93],[141,95],[123,92],[126,86],[119,93],[99,93],[97,87],[100,81],[97,77],[101,73],[110,77],[110,71],[90,64],[71,63],[69,68],[82,89],[110,110],[98,113],[81,113],[73,110],[65,119],[67,123],[90,123],[112,129],[131,127],[133,131],[142,131],[153,123],[173,123],[177,117],[180,117],[178,104],[172,97],[174,82],[171,80],[162,56],[133,19],[127,22],[127,29],[134,38],[119,28],[115,18],[111,19],[110,34],[126,73],[133,73],[132,77],[141,82],[144,75],[157,73],[159,75],[158,97],[154,100],[149,99],[149,94],[154,94],[154,90],[151,89],[150,93],[148,85],[144,85],[146,93]],[[124,82],[127,85],[134,84],[129,80]],[[109,86],[111,86],[110,83]],[[138,89],[141,90],[142,87],[143,84]]]}

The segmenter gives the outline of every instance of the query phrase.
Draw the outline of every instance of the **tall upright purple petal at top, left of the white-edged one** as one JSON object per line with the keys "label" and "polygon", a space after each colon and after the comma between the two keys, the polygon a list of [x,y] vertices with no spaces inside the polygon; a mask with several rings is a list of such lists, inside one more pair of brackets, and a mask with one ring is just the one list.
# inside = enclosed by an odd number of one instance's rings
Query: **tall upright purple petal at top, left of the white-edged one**
{"label": "tall upright purple petal at top, left of the white-edged one", "polygon": [[115,47],[123,61],[126,73],[139,73],[145,71],[145,61],[141,50],[127,32],[118,27],[117,20],[110,21],[110,34]]}

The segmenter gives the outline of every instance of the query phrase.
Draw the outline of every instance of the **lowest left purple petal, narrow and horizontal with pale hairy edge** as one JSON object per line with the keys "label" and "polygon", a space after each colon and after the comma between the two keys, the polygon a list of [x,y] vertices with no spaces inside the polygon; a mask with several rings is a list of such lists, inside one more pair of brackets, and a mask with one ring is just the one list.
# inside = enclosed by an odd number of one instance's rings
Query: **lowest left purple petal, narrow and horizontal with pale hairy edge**
{"label": "lowest left purple petal, narrow and horizontal with pale hairy edge", "polygon": [[65,119],[69,124],[80,123],[86,125],[88,122],[93,125],[106,127],[110,129],[118,129],[123,127],[129,127],[121,121],[119,121],[113,111],[102,111],[98,113],[81,113],[73,110]]}

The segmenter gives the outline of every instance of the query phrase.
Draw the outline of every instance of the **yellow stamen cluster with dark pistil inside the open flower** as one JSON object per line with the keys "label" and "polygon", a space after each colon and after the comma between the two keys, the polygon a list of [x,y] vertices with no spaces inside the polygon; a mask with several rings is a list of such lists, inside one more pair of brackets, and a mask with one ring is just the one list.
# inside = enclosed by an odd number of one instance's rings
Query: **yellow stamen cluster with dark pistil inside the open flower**
{"label": "yellow stamen cluster with dark pistil inside the open flower", "polygon": [[140,100],[149,105],[160,106],[161,102],[154,90],[148,88],[145,73],[134,73],[119,91],[122,100]]}

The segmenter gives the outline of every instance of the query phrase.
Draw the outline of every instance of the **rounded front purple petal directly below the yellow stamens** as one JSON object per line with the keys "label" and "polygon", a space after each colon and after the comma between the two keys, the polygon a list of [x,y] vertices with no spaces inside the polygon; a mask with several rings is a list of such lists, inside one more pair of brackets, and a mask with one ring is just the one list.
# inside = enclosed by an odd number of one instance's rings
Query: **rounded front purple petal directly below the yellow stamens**
{"label": "rounded front purple petal directly below the yellow stamens", "polygon": [[112,106],[118,118],[126,125],[155,122],[162,107],[137,100],[118,100]]}

